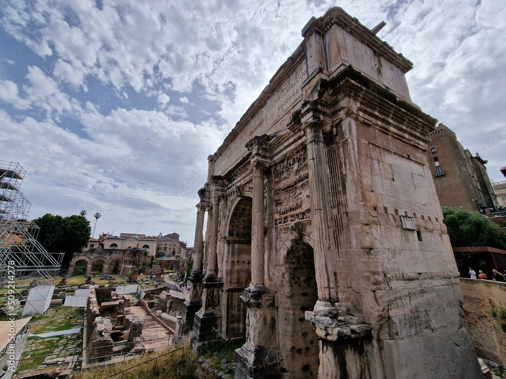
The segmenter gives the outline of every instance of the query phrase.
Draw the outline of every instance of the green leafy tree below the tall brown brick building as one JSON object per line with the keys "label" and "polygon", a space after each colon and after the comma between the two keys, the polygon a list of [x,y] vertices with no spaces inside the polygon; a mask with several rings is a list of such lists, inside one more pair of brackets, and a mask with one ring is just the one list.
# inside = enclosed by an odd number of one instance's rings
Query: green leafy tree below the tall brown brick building
{"label": "green leafy tree below the tall brown brick building", "polygon": [[506,249],[506,233],[478,212],[463,208],[453,209],[444,206],[444,224],[448,230],[451,246],[488,246]]}

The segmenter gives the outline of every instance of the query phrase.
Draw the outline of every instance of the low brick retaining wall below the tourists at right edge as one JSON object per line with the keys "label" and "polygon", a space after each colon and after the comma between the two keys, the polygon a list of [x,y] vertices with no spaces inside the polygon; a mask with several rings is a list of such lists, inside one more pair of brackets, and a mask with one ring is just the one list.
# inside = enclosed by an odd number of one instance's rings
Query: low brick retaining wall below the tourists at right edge
{"label": "low brick retaining wall below the tourists at right edge", "polygon": [[[506,364],[506,333],[501,328],[501,322],[506,322],[506,283],[460,278],[460,287],[464,296],[463,319],[476,353]],[[492,316],[494,309],[496,317]]]}

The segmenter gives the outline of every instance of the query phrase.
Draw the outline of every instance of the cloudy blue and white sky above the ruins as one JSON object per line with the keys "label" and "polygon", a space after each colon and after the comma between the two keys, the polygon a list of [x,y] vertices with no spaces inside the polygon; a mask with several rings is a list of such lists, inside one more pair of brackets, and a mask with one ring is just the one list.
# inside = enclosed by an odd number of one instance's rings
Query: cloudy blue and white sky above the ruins
{"label": "cloudy blue and white sky above the ruins", "polygon": [[207,156],[330,6],[410,59],[411,98],[506,166],[506,3],[496,0],[0,0],[0,160],[30,217],[193,245]]}

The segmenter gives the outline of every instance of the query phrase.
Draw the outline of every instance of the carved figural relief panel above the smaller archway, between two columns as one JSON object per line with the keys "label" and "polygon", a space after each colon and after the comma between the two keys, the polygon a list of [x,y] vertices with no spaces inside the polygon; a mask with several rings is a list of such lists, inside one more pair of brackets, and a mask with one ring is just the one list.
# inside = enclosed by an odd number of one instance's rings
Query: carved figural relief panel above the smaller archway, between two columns
{"label": "carved figural relief panel above the smaller archway, between two columns", "polygon": [[306,147],[274,167],[275,225],[310,218],[309,173]]}

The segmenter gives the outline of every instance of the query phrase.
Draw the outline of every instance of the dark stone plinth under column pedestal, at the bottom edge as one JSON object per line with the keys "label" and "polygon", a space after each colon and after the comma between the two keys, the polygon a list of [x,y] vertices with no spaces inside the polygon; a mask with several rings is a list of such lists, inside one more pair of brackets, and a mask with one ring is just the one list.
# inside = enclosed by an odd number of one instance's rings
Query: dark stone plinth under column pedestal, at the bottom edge
{"label": "dark stone plinth under column pedestal, at the bottom edge", "polygon": [[244,346],[235,351],[235,379],[278,379],[281,377],[278,357],[265,347],[254,351]]}

